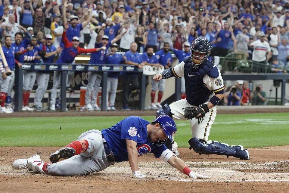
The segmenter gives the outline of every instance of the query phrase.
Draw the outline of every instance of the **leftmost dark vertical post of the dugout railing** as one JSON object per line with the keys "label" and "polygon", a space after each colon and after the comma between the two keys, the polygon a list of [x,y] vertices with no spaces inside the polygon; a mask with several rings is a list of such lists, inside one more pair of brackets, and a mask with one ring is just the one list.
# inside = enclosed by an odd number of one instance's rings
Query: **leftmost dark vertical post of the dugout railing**
{"label": "leftmost dark vertical post of the dugout railing", "polygon": [[23,101],[23,70],[15,66],[15,97],[14,97],[14,111],[22,111]]}

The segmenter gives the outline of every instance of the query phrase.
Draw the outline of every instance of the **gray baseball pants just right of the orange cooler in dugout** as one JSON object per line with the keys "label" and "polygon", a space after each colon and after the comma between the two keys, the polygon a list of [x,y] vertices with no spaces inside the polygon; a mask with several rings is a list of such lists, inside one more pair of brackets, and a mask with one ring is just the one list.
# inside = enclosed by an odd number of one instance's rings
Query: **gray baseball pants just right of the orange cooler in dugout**
{"label": "gray baseball pants just right of the orange cooler in dugout", "polygon": [[[85,92],[85,105],[91,104],[92,106],[94,106],[95,104],[97,104],[96,101],[101,79],[101,73],[88,72],[88,84]],[[92,96],[92,98],[90,98],[90,95]]]}

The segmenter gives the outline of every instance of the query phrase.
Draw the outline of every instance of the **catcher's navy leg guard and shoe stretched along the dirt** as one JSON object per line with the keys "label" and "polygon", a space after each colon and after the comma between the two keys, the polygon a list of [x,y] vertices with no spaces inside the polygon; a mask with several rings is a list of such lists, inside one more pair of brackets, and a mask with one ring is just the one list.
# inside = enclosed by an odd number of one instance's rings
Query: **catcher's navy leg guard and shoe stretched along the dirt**
{"label": "catcher's navy leg guard and shoe stretched along the dirt", "polygon": [[217,154],[225,155],[227,157],[238,157],[242,160],[250,160],[250,154],[247,149],[244,149],[241,145],[235,145],[229,147],[228,144],[212,142],[207,144],[203,139],[192,138],[189,140],[190,149],[199,154]]}

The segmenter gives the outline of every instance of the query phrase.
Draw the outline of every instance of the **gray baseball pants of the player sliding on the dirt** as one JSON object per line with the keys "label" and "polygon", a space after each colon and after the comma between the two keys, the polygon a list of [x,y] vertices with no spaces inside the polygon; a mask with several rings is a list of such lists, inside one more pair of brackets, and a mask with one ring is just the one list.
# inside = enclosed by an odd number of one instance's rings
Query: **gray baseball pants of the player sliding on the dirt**
{"label": "gray baseball pants of the player sliding on the dirt", "polygon": [[79,155],[70,157],[48,167],[48,175],[75,176],[100,172],[110,166],[106,159],[103,139],[99,130],[90,130],[82,133],[77,140],[86,140],[89,144],[87,150]]}

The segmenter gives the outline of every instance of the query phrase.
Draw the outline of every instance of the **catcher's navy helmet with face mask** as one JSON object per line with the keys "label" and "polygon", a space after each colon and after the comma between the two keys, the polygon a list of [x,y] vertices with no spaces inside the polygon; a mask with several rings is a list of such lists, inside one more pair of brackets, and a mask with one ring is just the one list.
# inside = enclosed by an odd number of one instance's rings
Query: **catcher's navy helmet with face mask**
{"label": "catcher's navy helmet with face mask", "polygon": [[[198,37],[192,42],[191,58],[193,68],[198,68],[210,55],[212,46],[206,38]],[[204,54],[203,54],[204,53]],[[198,55],[196,55],[198,54]],[[200,56],[203,54],[204,56]]]}

